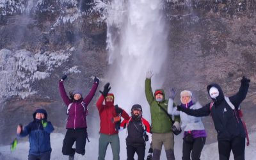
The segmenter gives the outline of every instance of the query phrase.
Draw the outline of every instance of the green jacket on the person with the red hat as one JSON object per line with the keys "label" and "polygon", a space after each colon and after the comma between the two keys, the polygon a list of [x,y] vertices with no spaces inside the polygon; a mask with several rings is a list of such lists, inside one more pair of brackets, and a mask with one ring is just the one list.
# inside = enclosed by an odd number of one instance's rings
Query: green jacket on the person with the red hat
{"label": "green jacket on the person with the red hat", "polygon": [[[148,104],[150,106],[150,112],[151,112],[151,126],[152,132],[156,133],[166,133],[166,132],[172,132],[172,124],[173,121],[170,120],[169,116],[164,113],[164,111],[159,108],[161,106],[162,108],[166,109],[168,107],[168,100],[165,99],[165,94],[164,90],[161,90],[163,92],[163,101],[162,102],[157,102],[151,88],[151,79],[146,79],[145,81],[145,93],[146,93],[146,98],[148,101]],[[156,90],[157,92],[158,90]],[[155,93],[156,93],[155,92]],[[158,106],[159,105],[159,106]],[[180,122],[180,116],[174,116],[174,120],[177,122]]]}

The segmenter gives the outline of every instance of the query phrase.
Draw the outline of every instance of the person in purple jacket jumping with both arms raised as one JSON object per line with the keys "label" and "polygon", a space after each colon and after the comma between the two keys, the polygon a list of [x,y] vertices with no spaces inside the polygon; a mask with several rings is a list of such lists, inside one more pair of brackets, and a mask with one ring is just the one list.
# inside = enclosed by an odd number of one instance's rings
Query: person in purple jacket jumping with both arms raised
{"label": "person in purple jacket jumping with both arms raised", "polygon": [[[74,155],[85,154],[85,144],[87,140],[87,106],[91,102],[99,85],[99,79],[94,77],[94,83],[90,93],[83,99],[83,95],[79,91],[70,93],[70,98],[65,91],[63,81],[67,79],[67,75],[63,76],[59,82],[60,95],[67,105],[67,132],[63,140],[62,153],[69,156],[68,159],[74,159]],[[76,141],[76,148],[72,148]]]}

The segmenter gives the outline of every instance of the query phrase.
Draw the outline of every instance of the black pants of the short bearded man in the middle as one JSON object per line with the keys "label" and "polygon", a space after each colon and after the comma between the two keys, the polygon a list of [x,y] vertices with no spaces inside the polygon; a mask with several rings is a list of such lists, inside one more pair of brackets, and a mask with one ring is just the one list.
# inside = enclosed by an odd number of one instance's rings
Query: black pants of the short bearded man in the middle
{"label": "black pants of the short bearded man in the middle", "polygon": [[134,147],[132,145],[127,145],[127,160],[134,160],[134,154],[138,155],[138,160],[144,160],[145,157],[145,145],[138,145],[138,147]]}

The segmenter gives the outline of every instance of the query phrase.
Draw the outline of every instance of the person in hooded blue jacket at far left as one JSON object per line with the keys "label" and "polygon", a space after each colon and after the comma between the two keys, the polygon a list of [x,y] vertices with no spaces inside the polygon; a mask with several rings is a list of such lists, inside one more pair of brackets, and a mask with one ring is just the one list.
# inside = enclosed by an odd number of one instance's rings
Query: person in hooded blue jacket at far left
{"label": "person in hooded blue jacket at far left", "polygon": [[18,125],[17,136],[22,138],[29,134],[29,160],[49,160],[52,152],[50,134],[54,127],[47,121],[45,109],[36,109],[33,118],[24,129]]}

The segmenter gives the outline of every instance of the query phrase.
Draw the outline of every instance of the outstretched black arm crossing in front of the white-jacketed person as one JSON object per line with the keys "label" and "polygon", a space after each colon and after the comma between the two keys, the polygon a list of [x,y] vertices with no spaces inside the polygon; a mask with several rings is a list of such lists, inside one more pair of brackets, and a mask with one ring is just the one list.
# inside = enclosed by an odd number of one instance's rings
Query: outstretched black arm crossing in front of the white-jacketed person
{"label": "outstretched black arm crossing in front of the white-jacketed person", "polygon": [[211,113],[210,103],[206,104],[204,107],[200,109],[189,109],[189,108],[182,108],[182,106],[177,106],[178,111],[183,111],[191,116],[209,116]]}

